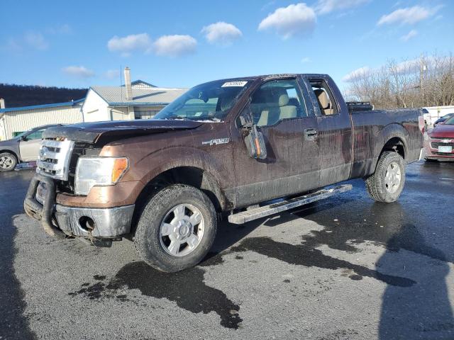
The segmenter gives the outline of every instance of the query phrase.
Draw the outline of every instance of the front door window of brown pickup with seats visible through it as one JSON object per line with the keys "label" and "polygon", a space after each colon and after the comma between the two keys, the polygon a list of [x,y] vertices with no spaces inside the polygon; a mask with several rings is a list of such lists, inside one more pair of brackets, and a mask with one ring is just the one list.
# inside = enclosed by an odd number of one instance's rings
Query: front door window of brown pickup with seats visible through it
{"label": "front door window of brown pickup with seats visible through it", "polygon": [[306,106],[295,79],[267,81],[255,91],[250,110],[257,126],[275,125],[287,118],[307,117]]}

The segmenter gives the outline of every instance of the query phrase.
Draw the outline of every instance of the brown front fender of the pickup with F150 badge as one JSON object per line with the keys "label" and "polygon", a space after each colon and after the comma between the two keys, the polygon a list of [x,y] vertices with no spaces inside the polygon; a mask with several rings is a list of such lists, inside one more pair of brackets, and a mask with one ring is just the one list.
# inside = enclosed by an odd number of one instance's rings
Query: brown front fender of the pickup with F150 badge
{"label": "brown front fender of the pickup with F150 badge", "polygon": [[194,130],[114,142],[102,149],[101,156],[128,157],[129,169],[121,182],[139,181],[142,188],[162,172],[179,166],[204,170],[221,193],[235,183],[228,123],[204,123]]}

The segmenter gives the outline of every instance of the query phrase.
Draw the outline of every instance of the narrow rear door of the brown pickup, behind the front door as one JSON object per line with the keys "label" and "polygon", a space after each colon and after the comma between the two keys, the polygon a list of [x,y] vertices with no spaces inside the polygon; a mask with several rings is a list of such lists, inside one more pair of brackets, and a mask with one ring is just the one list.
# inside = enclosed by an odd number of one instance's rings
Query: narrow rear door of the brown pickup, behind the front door
{"label": "narrow rear door of the brown pickup, behind the front door", "polygon": [[319,126],[320,186],[345,181],[352,164],[352,126],[341,92],[329,77],[306,79]]}

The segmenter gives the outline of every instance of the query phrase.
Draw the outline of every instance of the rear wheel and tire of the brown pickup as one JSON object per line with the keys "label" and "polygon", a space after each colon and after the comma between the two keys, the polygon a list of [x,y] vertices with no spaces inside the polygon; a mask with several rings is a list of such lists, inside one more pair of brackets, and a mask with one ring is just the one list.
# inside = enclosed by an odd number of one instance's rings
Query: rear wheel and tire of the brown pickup
{"label": "rear wheel and tire of the brown pickup", "polygon": [[404,159],[397,152],[383,152],[378,159],[375,173],[365,182],[367,192],[374,200],[384,203],[395,202],[405,184]]}

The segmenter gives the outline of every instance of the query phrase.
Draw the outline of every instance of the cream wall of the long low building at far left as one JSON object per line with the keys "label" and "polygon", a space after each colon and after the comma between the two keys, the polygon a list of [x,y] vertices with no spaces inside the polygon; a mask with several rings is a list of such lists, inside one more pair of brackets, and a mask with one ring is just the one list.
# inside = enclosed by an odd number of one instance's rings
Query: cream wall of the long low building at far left
{"label": "cream wall of the long low building at far left", "polygon": [[40,125],[74,124],[82,122],[80,106],[60,106],[4,113],[5,138],[9,140],[14,132],[23,132]]}

